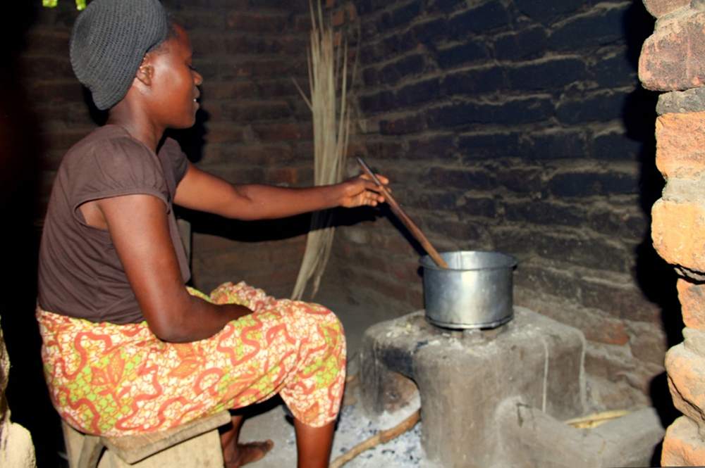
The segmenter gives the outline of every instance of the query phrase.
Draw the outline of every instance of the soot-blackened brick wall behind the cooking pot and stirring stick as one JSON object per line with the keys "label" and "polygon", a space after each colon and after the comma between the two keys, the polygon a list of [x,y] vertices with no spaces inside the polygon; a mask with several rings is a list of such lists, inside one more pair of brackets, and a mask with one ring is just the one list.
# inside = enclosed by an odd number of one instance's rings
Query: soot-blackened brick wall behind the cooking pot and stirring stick
{"label": "soot-blackened brick wall behind the cooking pot and stirring stick", "polygon": [[[515,303],[584,331],[594,400],[648,401],[682,325],[649,239],[663,179],[656,96],[637,79],[644,6],[354,0],[338,15],[360,25],[351,151],[439,250],[520,260]],[[422,308],[422,251],[391,218],[341,229],[329,277],[401,315]]]}

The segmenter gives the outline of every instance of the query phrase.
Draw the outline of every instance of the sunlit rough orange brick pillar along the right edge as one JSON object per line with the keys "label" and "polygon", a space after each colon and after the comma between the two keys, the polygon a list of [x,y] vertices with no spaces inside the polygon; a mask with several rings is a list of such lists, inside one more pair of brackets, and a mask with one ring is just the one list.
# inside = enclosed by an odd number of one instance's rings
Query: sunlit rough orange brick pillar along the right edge
{"label": "sunlit rough orange brick pillar along the right edge", "polygon": [[683,416],[663,441],[663,466],[705,465],[705,5],[644,0],[657,18],[639,79],[659,96],[656,166],[666,179],[651,209],[651,237],[680,275],[684,341],[666,353],[668,386]]}

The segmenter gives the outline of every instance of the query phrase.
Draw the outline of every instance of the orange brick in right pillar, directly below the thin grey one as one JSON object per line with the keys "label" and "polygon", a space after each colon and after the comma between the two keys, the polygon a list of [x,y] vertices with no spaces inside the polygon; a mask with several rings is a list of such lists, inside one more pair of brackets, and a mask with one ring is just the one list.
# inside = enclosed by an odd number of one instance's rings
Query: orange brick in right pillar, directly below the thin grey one
{"label": "orange brick in right pillar, directly below the thin grey one", "polygon": [[699,180],[705,171],[705,112],[659,115],[656,167],[666,179]]}

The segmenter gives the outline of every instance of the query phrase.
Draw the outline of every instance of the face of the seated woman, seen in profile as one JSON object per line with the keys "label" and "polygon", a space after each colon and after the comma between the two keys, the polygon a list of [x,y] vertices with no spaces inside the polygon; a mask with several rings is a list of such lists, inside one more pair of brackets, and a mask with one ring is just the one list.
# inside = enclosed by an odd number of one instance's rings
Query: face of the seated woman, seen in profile
{"label": "face of the seated woman, seen in profile", "polygon": [[179,25],[176,36],[149,53],[154,67],[152,110],[168,128],[188,128],[196,121],[198,86],[203,77],[192,67],[191,43]]}

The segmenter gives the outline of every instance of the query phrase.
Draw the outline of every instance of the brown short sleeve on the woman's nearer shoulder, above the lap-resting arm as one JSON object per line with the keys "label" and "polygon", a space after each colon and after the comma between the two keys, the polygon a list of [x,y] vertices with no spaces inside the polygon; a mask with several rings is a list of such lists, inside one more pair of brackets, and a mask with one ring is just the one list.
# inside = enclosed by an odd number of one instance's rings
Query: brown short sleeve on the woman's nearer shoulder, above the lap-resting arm
{"label": "brown short sleeve on the woman's nearer shoulder, above the lap-resting arm", "polygon": [[170,204],[168,186],[157,155],[129,137],[97,141],[80,158],[71,161],[71,205],[100,198],[148,194]]}

